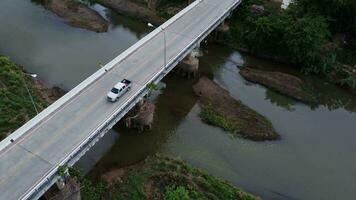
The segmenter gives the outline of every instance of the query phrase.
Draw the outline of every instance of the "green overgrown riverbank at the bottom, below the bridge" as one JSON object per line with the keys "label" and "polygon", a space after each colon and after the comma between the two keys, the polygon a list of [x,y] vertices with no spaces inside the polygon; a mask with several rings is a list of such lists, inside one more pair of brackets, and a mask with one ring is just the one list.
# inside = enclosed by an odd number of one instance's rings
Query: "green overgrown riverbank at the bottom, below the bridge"
{"label": "green overgrown riverbank at the bottom, below the bridge", "polygon": [[259,199],[214,178],[183,161],[153,156],[142,163],[122,169],[124,174],[113,183],[93,184],[82,179],[84,200],[102,199]]}

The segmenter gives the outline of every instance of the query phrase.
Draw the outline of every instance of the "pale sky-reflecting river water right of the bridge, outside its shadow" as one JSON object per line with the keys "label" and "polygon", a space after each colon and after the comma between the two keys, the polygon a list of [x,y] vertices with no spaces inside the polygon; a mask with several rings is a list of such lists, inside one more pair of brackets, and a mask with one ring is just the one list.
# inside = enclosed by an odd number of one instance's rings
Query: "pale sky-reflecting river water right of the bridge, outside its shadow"
{"label": "pale sky-reflecting river water right of the bridge, outside its shadow", "polygon": [[[316,81],[316,90],[325,101],[305,105],[258,84],[246,84],[235,61],[279,71],[277,64],[220,51],[214,45],[209,45],[207,52],[201,67],[214,66],[214,80],[267,117],[282,140],[258,143],[231,138],[221,129],[202,123],[194,107],[169,138],[164,152],[181,156],[264,199],[355,198],[356,182],[351,177],[356,175],[356,114],[350,106],[356,102],[354,96],[309,77]],[[297,70],[280,68],[313,81]]]}

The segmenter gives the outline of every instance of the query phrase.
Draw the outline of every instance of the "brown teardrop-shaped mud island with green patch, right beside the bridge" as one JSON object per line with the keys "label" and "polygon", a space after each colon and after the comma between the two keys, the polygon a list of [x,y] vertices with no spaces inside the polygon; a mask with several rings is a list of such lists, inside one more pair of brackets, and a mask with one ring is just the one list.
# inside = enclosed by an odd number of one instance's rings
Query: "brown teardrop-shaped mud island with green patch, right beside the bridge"
{"label": "brown teardrop-shaped mud island with green patch, right beside the bridge", "polygon": [[271,122],[208,78],[202,77],[193,89],[199,96],[200,117],[206,123],[251,140],[279,138]]}

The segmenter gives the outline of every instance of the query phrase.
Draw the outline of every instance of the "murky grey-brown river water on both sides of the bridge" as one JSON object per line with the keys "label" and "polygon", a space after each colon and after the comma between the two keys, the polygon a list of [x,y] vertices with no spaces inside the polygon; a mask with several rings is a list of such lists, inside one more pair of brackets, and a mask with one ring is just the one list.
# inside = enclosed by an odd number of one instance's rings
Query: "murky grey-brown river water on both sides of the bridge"
{"label": "murky grey-brown river water on both sides of the bridge", "polygon": [[[0,54],[48,85],[70,89],[99,62],[108,62],[149,31],[145,24],[96,9],[114,22],[108,33],[69,27],[30,1],[2,0]],[[200,74],[266,116],[281,140],[252,142],[202,123],[191,89],[195,80],[169,75],[152,97],[157,105],[152,130],[115,127],[78,163],[88,177],[161,153],[179,156],[265,199],[356,199],[355,96],[219,45],[209,44],[203,53]],[[321,104],[306,105],[248,83],[238,74],[242,65],[301,76],[316,87]]]}

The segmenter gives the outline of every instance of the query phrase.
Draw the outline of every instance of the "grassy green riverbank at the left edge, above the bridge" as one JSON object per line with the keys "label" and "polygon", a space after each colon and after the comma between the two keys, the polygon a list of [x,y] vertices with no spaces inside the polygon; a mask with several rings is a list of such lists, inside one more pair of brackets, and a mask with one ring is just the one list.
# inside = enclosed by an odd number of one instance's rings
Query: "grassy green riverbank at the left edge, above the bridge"
{"label": "grassy green riverbank at the left edge, above the bridge", "polygon": [[33,79],[22,71],[20,66],[0,56],[0,139],[25,124],[37,111],[40,112],[62,95],[62,89],[45,87],[40,80]]}

